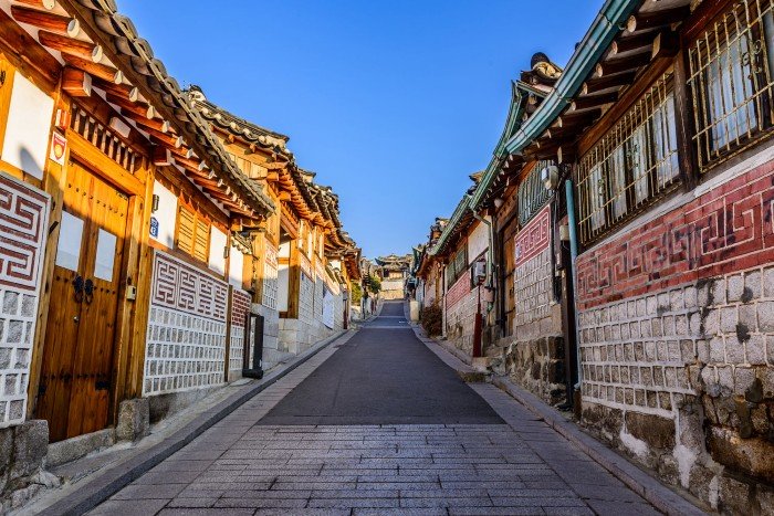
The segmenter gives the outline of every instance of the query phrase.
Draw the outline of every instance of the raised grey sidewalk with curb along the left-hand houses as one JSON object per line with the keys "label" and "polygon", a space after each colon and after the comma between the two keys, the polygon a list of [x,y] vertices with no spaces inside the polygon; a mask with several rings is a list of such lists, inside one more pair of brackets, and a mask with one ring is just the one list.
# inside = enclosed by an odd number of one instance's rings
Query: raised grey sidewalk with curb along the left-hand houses
{"label": "raised grey sidewalk with curb along the left-hand houses", "polygon": [[237,408],[276,383],[333,343],[355,330],[343,330],[294,357],[261,380],[242,379],[224,386],[189,409],[156,423],[151,433],[134,443],[118,443],[83,459],[56,466],[52,472],[64,484],[43,492],[11,514],[82,514],[186,446]]}

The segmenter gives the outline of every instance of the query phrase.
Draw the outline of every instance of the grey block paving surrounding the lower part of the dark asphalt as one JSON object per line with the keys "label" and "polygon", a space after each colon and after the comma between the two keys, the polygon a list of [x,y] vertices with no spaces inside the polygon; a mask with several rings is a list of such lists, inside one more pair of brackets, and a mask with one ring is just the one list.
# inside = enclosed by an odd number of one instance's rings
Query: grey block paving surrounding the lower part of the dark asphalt
{"label": "grey block paving surrounding the lower part of the dark asphalt", "polygon": [[92,514],[659,514],[491,385],[473,389],[495,424],[257,424],[334,352],[321,351]]}

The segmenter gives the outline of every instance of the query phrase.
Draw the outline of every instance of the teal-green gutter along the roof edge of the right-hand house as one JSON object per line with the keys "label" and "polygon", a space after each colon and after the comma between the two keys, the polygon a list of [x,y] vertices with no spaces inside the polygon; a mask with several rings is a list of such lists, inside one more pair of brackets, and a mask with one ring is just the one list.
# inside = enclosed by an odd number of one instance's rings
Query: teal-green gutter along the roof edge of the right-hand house
{"label": "teal-green gutter along the roof edge of the right-hand house", "polygon": [[[562,72],[554,89],[545,97],[535,113],[519,127],[505,144],[508,154],[521,154],[535,138],[538,138],[572,102],[588,77],[594,66],[609,48],[627,18],[637,9],[641,0],[607,0],[594,19],[569,63]],[[488,168],[470,200],[478,207],[498,175],[496,169]]]}

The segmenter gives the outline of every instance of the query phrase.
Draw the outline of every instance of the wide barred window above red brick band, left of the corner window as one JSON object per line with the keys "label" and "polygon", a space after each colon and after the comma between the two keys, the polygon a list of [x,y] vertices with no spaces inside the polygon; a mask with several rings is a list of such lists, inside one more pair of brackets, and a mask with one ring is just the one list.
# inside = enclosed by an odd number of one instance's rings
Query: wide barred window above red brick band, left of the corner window
{"label": "wide barred window above red brick band, left of the corner window", "polygon": [[672,73],[592,147],[576,169],[580,241],[592,242],[679,182]]}

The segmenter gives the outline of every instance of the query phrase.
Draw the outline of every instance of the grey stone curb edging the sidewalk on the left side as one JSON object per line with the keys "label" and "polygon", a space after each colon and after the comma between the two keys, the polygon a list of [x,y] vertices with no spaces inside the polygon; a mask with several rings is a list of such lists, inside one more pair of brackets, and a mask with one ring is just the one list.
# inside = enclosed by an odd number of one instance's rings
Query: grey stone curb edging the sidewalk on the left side
{"label": "grey stone curb edging the sidewalk on the left side", "polygon": [[125,463],[117,464],[114,467],[105,470],[104,473],[97,475],[94,480],[84,484],[74,493],[71,493],[70,495],[59,499],[43,509],[41,514],[81,515],[87,513],[121,491],[123,487],[127,486],[129,483],[139,478],[143,474],[158,465],[161,461],[168,459],[175,452],[189,444],[191,441],[194,441],[194,439],[198,438],[205,431],[233,412],[234,409],[242,406],[248,400],[265,390],[268,387],[274,385],[306,360],[317,355],[317,352],[322,351],[339,338],[354,333],[355,330],[342,330],[337,335],[320,341],[315,347],[299,355],[294,361],[287,365],[287,367],[283,368],[282,370],[270,372],[248,390],[237,392],[227,398],[223,403],[206,410],[194,421],[182,427],[163,442],[138,453],[136,456],[129,459]]}

